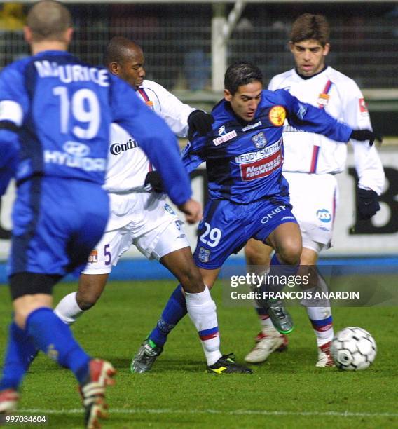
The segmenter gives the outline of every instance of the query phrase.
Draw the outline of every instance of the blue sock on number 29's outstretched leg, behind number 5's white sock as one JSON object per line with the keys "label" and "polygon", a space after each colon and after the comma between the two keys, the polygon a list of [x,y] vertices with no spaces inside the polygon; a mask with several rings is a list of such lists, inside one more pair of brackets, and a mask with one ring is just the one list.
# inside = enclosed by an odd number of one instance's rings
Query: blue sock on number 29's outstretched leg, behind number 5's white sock
{"label": "blue sock on number 29's outstretched leg, behind number 5's white sock", "polygon": [[156,343],[156,346],[164,346],[167,341],[167,335],[184,318],[186,313],[185,297],[182,293],[181,285],[178,285],[167,301],[156,328],[149,334],[149,339]]}

